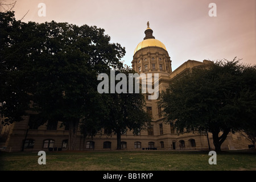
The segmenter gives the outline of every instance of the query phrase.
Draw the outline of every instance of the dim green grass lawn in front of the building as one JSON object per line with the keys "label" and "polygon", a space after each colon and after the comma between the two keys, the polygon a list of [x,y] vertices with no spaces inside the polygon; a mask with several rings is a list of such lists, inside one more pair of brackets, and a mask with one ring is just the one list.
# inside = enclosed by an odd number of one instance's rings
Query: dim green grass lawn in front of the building
{"label": "dim green grass lawn in front of the building", "polygon": [[46,152],[46,165],[38,164],[38,153],[0,153],[4,171],[256,171],[256,151],[217,153],[210,165],[209,151],[59,151]]}

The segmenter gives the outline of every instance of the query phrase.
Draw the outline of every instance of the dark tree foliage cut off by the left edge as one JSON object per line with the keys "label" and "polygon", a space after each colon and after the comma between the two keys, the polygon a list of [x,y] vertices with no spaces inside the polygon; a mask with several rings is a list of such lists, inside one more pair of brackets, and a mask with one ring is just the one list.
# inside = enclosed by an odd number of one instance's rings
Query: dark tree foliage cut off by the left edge
{"label": "dark tree foliage cut off by the left edge", "polygon": [[32,44],[30,32],[22,32],[26,26],[14,18],[14,12],[0,13],[0,114],[4,125],[21,121],[29,109],[25,69]]}

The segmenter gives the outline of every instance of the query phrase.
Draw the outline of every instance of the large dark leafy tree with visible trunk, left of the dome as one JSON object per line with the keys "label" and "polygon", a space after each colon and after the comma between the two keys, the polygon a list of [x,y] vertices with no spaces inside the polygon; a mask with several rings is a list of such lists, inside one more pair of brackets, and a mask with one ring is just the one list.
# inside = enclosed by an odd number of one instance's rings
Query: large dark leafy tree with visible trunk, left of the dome
{"label": "large dark leafy tree with visible trunk, left of the dome", "polygon": [[101,28],[56,22],[39,26],[46,34],[47,59],[37,60],[34,101],[43,115],[69,126],[68,145],[73,150],[79,123],[84,118],[96,120],[91,113],[100,98],[97,74],[121,68],[125,50],[109,43]]}

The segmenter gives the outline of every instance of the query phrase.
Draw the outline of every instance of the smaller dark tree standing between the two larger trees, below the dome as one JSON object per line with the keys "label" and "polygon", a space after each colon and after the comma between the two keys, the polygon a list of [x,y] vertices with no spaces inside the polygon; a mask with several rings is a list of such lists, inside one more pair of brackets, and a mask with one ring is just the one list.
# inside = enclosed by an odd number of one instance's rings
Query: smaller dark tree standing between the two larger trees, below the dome
{"label": "smaller dark tree standing between the two larger trees, below the dome", "polygon": [[[144,94],[141,92],[135,93],[135,81],[132,84],[131,82],[129,83],[129,76],[135,72],[126,68],[115,71],[115,75],[119,73],[123,74],[123,77],[118,83],[115,82],[115,85],[120,86],[119,88],[122,89],[122,93],[103,94],[108,116],[101,125],[106,133],[114,133],[117,136],[117,150],[121,149],[122,134],[128,130],[133,130],[134,134],[138,134],[151,121],[149,115],[144,110],[146,104]],[[133,85],[132,93],[129,93],[129,85]]]}

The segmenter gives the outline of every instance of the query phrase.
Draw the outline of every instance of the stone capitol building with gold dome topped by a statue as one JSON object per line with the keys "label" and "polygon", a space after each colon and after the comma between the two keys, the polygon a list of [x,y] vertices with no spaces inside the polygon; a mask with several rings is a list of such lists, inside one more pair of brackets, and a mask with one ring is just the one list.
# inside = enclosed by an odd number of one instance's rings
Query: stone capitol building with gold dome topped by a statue
{"label": "stone capitol building with gold dome topped by a statue", "polygon": [[[172,71],[172,60],[168,49],[160,40],[153,36],[153,30],[147,23],[144,31],[145,36],[142,42],[134,45],[134,55],[131,61],[134,71],[137,73],[158,73],[159,93],[168,88],[172,79],[192,68],[208,67],[212,61],[187,60],[177,69]],[[136,46],[137,45],[137,46]],[[122,150],[214,150],[212,134],[200,135],[195,133],[177,134],[170,123],[166,123],[166,117],[162,113],[163,108],[159,107],[158,100],[149,100],[146,97],[145,110],[151,117],[151,125],[146,130],[134,135],[127,131],[121,136]],[[1,141],[0,147],[5,151],[63,151],[67,150],[69,131],[66,127],[60,127],[62,122],[54,125],[45,123],[38,128],[28,127],[28,123],[35,119],[35,113],[24,116],[24,120],[14,122],[9,126],[0,126],[0,134],[6,137]],[[93,138],[84,137],[77,131],[75,150],[116,150],[117,137],[104,133],[104,129]],[[209,141],[209,142],[208,142]],[[239,133],[229,133],[225,142],[222,143],[222,150],[236,150],[248,148],[249,141]]]}

